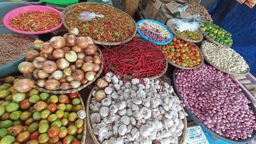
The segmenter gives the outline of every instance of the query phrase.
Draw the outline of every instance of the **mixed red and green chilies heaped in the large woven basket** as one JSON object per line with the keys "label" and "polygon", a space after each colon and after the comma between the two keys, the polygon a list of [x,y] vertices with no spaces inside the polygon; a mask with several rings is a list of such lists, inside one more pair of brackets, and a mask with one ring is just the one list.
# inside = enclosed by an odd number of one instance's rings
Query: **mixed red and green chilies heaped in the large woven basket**
{"label": "mixed red and green chilies heaped in the large woven basket", "polygon": [[[104,18],[96,17],[90,22],[82,22],[78,17],[84,11],[103,14]],[[69,27],[78,28],[80,35],[103,42],[126,40],[136,28],[134,20],[128,14],[103,4],[77,5],[70,10],[65,22]]]}

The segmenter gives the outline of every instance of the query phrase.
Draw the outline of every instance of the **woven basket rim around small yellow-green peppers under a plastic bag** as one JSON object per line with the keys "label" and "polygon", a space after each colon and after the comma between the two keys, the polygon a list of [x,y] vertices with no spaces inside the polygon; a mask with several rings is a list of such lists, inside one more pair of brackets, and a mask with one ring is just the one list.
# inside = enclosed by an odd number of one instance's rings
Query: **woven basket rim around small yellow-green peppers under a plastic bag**
{"label": "woven basket rim around small yellow-green peppers under a plastic bag", "polygon": [[180,38],[180,39],[182,39],[182,40],[185,40],[185,41],[187,41],[187,42],[194,42],[194,43],[201,42],[202,39],[204,38],[203,34],[202,34],[199,30],[197,30],[197,32],[198,32],[198,34],[199,34],[199,40],[190,40],[190,39],[188,39],[188,38],[184,38],[183,36],[179,35],[179,34],[176,32],[176,28],[175,28],[175,25],[172,24],[172,20],[178,20],[178,18],[170,18],[170,19],[167,21],[166,25],[167,25],[167,27],[170,29],[170,31],[171,31],[175,36],[177,36],[178,38]]}

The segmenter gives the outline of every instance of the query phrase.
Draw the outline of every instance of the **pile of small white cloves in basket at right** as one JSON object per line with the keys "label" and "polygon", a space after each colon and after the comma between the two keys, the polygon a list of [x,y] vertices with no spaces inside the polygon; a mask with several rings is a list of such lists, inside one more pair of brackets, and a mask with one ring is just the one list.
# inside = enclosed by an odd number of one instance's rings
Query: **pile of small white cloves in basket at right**
{"label": "pile of small white cloves in basket at right", "polygon": [[202,51],[210,62],[228,72],[243,74],[249,69],[244,58],[232,48],[219,46],[206,41],[202,45]]}

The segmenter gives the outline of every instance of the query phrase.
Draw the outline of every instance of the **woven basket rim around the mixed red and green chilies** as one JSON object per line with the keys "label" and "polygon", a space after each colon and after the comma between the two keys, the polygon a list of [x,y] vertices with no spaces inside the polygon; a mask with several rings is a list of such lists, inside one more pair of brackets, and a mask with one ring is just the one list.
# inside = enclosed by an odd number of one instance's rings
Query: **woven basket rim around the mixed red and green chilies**
{"label": "woven basket rim around the mixed red and green chilies", "polygon": [[[70,13],[70,11],[76,7],[77,5],[91,5],[91,4],[100,4],[100,3],[96,3],[96,2],[80,2],[80,3],[77,3],[77,4],[73,4],[73,5],[70,5],[68,7],[66,7],[63,12],[62,12],[62,16],[61,16],[61,20],[62,20],[62,23],[63,25],[65,26],[65,28],[68,30],[69,27],[68,25],[66,24],[66,21],[65,21],[65,18],[66,16]],[[105,6],[108,6],[106,4],[102,4],[102,5],[105,5]],[[113,7],[114,8],[114,7]],[[114,8],[114,9],[117,9],[117,8]],[[119,9],[117,9],[119,10]],[[120,10],[121,12],[123,12],[122,10]],[[125,12],[123,12],[125,13]],[[126,13],[125,13],[126,14]],[[128,15],[128,14],[126,14]],[[129,16],[129,15],[128,15]],[[120,44],[125,44],[126,42],[129,42],[130,40],[132,40],[133,37],[136,36],[136,32],[137,32],[137,28],[136,28],[136,22],[134,21],[134,19],[129,16],[133,22],[134,22],[134,26],[135,26],[135,29],[134,29],[134,33],[132,34],[132,36],[130,36],[130,38],[126,39],[126,40],[123,40],[123,41],[120,41],[120,42],[104,42],[104,41],[98,41],[98,40],[94,40],[94,43],[96,44],[101,44],[101,45],[108,45],[108,46],[114,46],[114,45],[120,45]],[[78,36],[81,36],[78,34]]]}

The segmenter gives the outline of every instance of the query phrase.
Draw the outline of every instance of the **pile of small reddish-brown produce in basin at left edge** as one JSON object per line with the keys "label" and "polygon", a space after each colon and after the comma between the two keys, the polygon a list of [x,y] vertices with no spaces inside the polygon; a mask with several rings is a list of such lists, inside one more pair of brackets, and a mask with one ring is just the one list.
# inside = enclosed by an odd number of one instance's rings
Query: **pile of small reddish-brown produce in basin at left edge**
{"label": "pile of small reddish-brown produce in basin at left edge", "polygon": [[12,62],[31,50],[34,39],[18,34],[0,34],[0,66]]}

